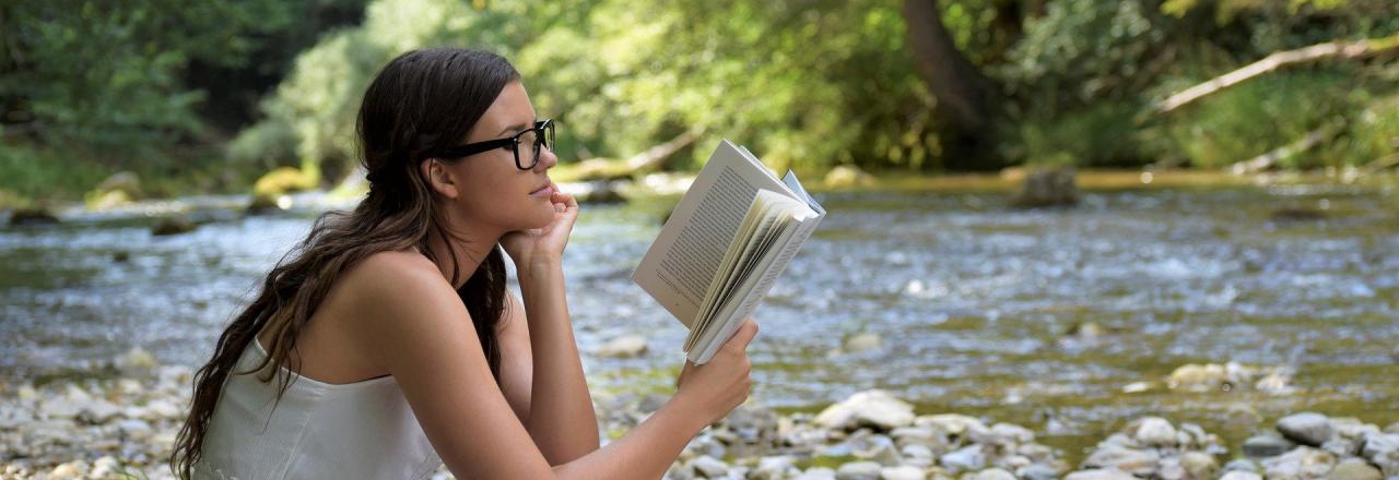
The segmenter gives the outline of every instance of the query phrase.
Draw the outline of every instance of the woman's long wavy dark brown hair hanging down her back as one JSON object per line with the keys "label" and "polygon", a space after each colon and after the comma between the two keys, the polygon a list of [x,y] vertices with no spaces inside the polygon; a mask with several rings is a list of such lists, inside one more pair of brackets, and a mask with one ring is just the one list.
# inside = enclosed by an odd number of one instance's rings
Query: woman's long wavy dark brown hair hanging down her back
{"label": "woman's long wavy dark brown hair hanging down her back", "polygon": [[[379,71],[364,93],[355,124],[369,194],[351,212],[318,218],[306,239],[263,279],[256,300],[218,336],[213,357],[194,373],[189,417],[169,459],[176,477],[190,477],[229,374],[260,371],[257,378],[263,382],[277,377],[277,400],[281,400],[292,381],[281,367],[292,361],[290,353],[298,333],[341,273],[381,251],[417,247],[432,258],[427,248],[429,233],[452,239],[418,165],[459,142],[505,85],[516,80],[519,73],[505,59],[463,49],[409,52]],[[460,264],[455,248],[448,251],[455,283]],[[501,353],[495,328],[505,310],[505,260],[499,246],[457,294],[476,322],[481,349],[498,380]],[[266,346],[269,357],[250,371],[232,371],[243,349],[263,329],[271,335]],[[299,371],[299,366],[291,367]]]}

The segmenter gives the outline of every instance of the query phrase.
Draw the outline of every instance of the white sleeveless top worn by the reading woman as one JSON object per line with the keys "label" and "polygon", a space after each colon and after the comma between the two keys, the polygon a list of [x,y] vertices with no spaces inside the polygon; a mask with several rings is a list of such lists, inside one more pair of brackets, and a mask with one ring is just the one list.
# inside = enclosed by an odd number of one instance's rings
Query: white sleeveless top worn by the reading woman
{"label": "white sleeveless top worn by the reading woman", "polygon": [[[253,338],[235,371],[266,356]],[[334,385],[294,374],[273,409],[276,393],[276,377],[228,377],[194,479],[416,480],[442,465],[393,377]]]}

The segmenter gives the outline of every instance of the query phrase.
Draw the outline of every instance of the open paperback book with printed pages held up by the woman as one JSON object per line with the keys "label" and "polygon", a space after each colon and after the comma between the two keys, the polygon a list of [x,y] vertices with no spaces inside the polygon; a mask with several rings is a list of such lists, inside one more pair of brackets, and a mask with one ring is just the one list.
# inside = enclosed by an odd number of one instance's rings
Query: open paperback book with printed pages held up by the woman
{"label": "open paperback book with printed pages held up by the woman", "polygon": [[778,180],[747,148],[725,140],[632,280],[690,328],[684,352],[704,364],[753,314],[824,218],[796,174]]}

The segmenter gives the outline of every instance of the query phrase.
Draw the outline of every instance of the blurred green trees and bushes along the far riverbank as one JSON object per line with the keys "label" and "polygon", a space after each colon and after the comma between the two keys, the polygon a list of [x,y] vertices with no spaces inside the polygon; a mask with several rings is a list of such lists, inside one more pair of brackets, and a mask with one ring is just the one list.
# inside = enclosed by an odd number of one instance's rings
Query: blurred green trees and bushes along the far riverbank
{"label": "blurred green trees and bushes along the far riverbank", "polygon": [[[1396,33],[1392,0],[7,1],[0,207],[118,172],[134,197],[334,184],[376,70],[442,45],[511,59],[564,159],[698,134],[662,166],[730,138],[810,172],[1220,169],[1318,134],[1279,166],[1363,166],[1399,151]],[[1330,40],[1379,50],[1157,110]]]}

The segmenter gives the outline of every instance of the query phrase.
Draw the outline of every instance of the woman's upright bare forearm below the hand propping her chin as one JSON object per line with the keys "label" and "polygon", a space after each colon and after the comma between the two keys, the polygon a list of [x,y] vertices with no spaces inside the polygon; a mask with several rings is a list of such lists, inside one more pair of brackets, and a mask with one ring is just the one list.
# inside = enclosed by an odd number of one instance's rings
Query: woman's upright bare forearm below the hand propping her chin
{"label": "woman's upright bare forearm below the hand propping her chin", "polygon": [[597,449],[597,416],[568,317],[564,268],[558,258],[536,257],[515,271],[533,360],[525,428],[550,465],[562,465]]}

